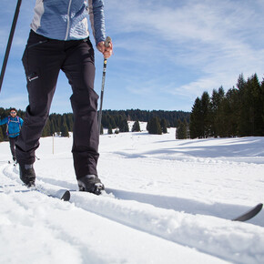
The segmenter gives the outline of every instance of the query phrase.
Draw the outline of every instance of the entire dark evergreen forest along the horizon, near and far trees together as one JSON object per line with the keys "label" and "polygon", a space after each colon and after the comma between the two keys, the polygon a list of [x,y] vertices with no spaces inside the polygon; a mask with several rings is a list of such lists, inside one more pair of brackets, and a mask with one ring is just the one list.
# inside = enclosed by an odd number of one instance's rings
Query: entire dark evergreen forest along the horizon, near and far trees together
{"label": "entire dark evergreen forest along the horizon, near and far trees together", "polygon": [[[9,115],[9,109],[0,107],[0,117]],[[18,110],[18,117],[24,119],[25,112]],[[191,113],[184,111],[164,110],[104,110],[103,127],[108,134],[128,132],[127,121],[135,120],[132,131],[140,131],[138,121],[147,122],[150,134],[167,133],[167,127],[177,127],[176,138],[206,137],[248,137],[264,136],[264,79],[259,82],[257,74],[246,81],[239,75],[236,86],[226,93],[220,86],[213,89],[212,95],[204,92],[197,97]],[[74,117],[72,113],[51,114],[46,122],[42,137],[58,134],[69,137],[73,131]],[[6,126],[0,127],[0,141],[7,140]]]}

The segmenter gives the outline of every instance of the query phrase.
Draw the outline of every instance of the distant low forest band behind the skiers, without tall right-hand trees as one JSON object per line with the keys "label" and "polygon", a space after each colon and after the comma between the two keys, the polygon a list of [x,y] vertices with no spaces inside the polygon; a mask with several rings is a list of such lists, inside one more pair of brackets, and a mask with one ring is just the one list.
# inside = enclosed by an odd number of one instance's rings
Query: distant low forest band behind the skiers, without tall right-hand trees
{"label": "distant low forest band behind the skiers, without tall right-hand trees", "polygon": [[[9,116],[10,109],[0,107],[0,117]],[[147,122],[148,132],[150,134],[167,133],[167,127],[177,127],[181,120],[189,120],[189,113],[183,111],[163,111],[163,110],[104,110],[102,113],[101,134],[103,127],[108,129],[108,134],[119,132],[128,132],[127,121],[135,120],[132,131],[140,131],[138,121]],[[17,116],[25,118],[25,111],[18,110]],[[60,135],[61,137],[69,137],[69,132],[73,131],[74,116],[72,113],[51,114],[49,115],[46,126],[43,130],[42,137],[50,137]],[[6,126],[0,126],[0,141],[7,140]]]}

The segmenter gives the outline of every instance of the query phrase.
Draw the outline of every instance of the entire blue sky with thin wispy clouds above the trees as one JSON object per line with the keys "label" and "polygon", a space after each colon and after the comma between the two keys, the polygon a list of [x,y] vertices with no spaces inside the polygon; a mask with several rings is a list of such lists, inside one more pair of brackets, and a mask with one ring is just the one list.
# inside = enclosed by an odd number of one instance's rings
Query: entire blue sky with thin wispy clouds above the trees
{"label": "entire blue sky with thin wispy clouds above the trees", "polygon": [[[16,1],[1,0],[0,64]],[[3,7],[4,6],[4,7]],[[35,0],[24,0],[0,94],[0,107],[25,110],[27,92],[21,57]],[[114,56],[107,62],[104,109],[190,111],[203,91],[235,86],[264,74],[263,0],[105,0],[107,36]],[[94,38],[91,37],[94,43]],[[103,58],[96,51],[96,92]],[[52,113],[72,112],[71,87],[61,72]]]}

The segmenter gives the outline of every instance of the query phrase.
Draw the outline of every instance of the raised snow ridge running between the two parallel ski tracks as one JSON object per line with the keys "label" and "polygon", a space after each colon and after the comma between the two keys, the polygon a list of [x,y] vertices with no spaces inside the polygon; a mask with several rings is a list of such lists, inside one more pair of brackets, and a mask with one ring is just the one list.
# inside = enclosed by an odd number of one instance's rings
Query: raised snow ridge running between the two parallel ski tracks
{"label": "raised snow ridge running between the two parallel ski tracks", "polygon": [[[18,178],[18,172],[12,166],[7,166],[4,174],[7,178]],[[77,208],[221,259],[237,263],[251,263],[254,260],[261,263],[264,260],[261,246],[264,245],[264,229],[250,224],[203,215],[194,216],[135,200],[117,199],[109,195],[97,197],[86,192],[71,192],[71,201]],[[232,234],[235,236],[232,237]],[[240,247],[240,243],[247,244],[247,253]]]}

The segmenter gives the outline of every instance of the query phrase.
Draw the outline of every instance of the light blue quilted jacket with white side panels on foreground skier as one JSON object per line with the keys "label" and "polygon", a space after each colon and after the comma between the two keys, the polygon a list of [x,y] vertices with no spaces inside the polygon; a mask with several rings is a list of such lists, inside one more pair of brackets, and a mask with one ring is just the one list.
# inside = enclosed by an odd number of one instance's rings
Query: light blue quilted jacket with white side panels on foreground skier
{"label": "light blue quilted jacket with white side panels on foreground skier", "polygon": [[96,45],[106,40],[104,0],[36,0],[31,28],[36,34],[57,40],[89,36],[90,17]]}

